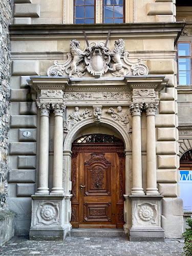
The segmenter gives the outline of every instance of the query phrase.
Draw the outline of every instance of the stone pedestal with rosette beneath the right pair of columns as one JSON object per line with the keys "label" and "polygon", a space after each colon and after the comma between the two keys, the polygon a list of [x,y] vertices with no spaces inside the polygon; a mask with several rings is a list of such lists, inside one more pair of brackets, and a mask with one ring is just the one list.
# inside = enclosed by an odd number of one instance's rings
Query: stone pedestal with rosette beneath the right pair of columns
{"label": "stone pedestal with rosette beneath the right pair of columns", "polygon": [[130,241],[164,242],[161,228],[162,196],[130,196],[132,201],[132,227]]}

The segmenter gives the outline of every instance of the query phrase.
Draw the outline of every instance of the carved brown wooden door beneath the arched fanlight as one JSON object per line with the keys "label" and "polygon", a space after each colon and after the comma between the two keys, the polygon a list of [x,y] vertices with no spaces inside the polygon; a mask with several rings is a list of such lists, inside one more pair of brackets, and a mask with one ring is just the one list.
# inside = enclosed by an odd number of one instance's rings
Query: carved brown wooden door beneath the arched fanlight
{"label": "carved brown wooden door beneath the arched fanlight", "polygon": [[122,228],[124,145],[73,144],[73,228]]}

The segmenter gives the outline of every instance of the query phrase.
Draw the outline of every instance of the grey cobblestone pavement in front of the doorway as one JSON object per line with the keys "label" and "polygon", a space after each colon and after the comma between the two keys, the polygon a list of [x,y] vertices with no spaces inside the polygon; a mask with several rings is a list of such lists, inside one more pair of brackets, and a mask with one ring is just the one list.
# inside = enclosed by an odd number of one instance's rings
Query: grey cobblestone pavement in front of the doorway
{"label": "grey cobblestone pavement in front of the doorway", "polygon": [[0,247],[1,256],[60,256],[60,255],[132,255],[176,256],[182,254],[183,241],[129,242],[126,238],[67,237],[65,241],[29,241],[13,238]]}

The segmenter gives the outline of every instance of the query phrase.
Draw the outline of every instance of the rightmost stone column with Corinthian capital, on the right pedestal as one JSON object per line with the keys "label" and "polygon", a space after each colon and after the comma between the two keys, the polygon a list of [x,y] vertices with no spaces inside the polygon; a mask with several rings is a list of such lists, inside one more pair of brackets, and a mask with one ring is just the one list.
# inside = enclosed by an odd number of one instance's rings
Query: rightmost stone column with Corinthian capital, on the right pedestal
{"label": "rightmost stone column with Corinthian capital, on the right pedestal", "polygon": [[146,110],[146,195],[159,195],[156,175],[155,112],[158,102],[145,103]]}

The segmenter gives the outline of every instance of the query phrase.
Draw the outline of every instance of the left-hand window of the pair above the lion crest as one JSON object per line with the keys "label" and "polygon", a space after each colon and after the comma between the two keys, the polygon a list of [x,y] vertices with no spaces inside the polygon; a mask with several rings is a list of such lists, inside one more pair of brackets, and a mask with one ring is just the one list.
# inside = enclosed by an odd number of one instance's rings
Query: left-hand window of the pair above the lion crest
{"label": "left-hand window of the pair above the lion crest", "polygon": [[75,24],[95,23],[95,0],[75,0]]}

